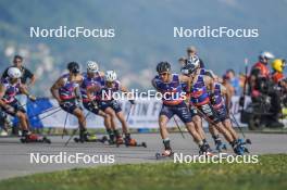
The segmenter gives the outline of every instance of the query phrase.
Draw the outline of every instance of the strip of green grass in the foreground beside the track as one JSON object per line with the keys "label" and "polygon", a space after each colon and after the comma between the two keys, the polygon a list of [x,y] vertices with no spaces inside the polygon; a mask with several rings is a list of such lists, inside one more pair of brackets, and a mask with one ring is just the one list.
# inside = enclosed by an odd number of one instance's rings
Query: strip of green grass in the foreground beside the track
{"label": "strip of green grass in the foreground beside the track", "polygon": [[287,154],[262,155],[259,164],[126,164],[71,169],[0,181],[5,190],[286,190]]}

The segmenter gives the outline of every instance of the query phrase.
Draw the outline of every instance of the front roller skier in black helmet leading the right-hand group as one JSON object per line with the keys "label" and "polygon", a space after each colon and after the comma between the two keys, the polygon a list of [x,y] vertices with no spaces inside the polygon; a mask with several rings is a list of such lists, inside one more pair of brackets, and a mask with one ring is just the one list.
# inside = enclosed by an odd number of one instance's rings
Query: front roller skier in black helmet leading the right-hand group
{"label": "front roller skier in black helmet leading the right-hand group", "polygon": [[198,143],[201,153],[209,154],[209,145],[204,144],[201,136],[191,121],[191,115],[185,104],[185,93],[182,88],[182,83],[188,83],[189,78],[184,75],[171,73],[171,64],[160,62],[157,65],[158,75],[152,79],[153,87],[162,94],[162,109],[159,115],[160,132],[163,140],[164,152],[162,156],[171,156],[173,154],[171,140],[166,125],[169,121],[177,115],[186,125],[189,134]]}

